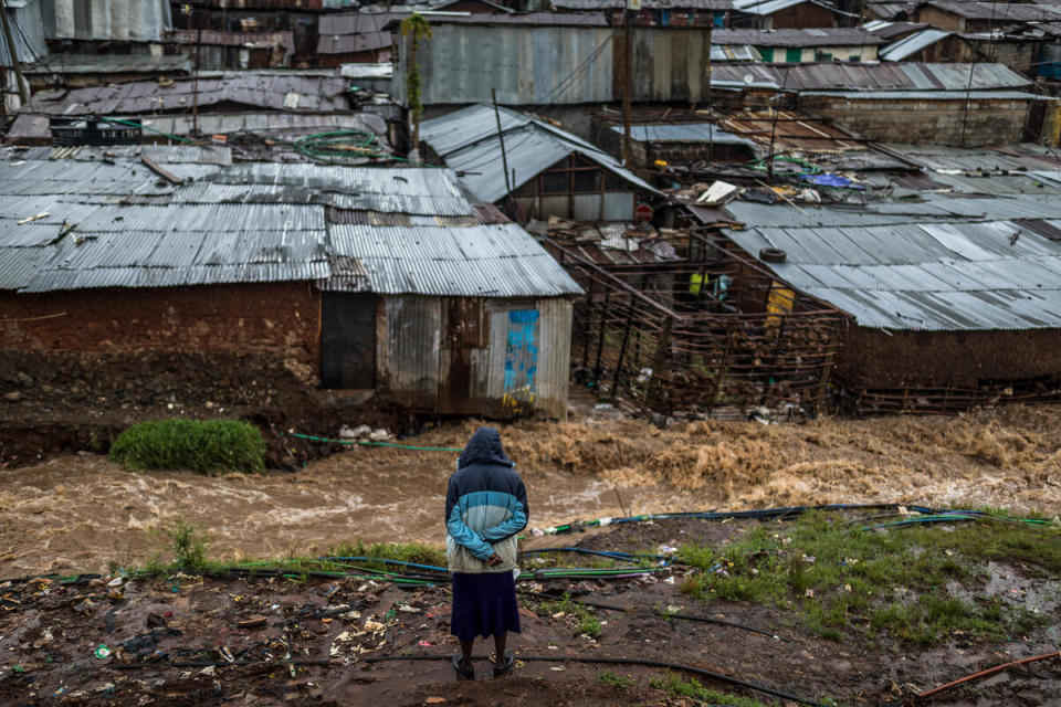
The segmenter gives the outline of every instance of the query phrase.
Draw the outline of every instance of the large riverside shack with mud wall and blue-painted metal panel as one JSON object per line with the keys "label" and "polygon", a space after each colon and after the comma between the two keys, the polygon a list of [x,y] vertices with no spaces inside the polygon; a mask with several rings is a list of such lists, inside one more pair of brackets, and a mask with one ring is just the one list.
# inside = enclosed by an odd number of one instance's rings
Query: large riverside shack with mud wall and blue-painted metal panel
{"label": "large riverside shack with mud wall and blue-painted metal panel", "polygon": [[2,349],[252,354],[417,410],[566,413],[581,289],[449,170],[190,146],[7,157]]}

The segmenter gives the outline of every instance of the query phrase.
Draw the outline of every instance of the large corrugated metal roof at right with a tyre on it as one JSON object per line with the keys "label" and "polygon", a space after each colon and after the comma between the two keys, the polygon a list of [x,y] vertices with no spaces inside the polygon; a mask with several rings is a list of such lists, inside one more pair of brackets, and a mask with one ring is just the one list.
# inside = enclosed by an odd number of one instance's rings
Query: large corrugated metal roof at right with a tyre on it
{"label": "large corrugated metal roof at right with a tyre on it", "polygon": [[[1055,194],[992,199],[929,194],[924,203],[859,210],[736,201],[747,230],[726,234],[794,287],[894,329],[1061,327],[1061,243],[1039,234],[1061,223]],[[1015,219],[1043,219],[1031,229]],[[1015,238],[1016,236],[1016,238]]]}

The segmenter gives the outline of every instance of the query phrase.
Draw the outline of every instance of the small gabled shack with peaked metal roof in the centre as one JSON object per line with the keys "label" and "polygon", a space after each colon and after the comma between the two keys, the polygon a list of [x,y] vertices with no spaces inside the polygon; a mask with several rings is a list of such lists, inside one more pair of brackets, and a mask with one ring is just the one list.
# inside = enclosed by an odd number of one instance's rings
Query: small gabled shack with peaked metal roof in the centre
{"label": "small gabled shack with peaked metal roof in the centre", "polygon": [[639,203],[661,197],[611,155],[516,110],[498,108],[495,115],[493,106],[469,106],[426,120],[420,135],[476,199],[507,207],[511,196],[510,212],[523,223],[549,217],[632,221]]}

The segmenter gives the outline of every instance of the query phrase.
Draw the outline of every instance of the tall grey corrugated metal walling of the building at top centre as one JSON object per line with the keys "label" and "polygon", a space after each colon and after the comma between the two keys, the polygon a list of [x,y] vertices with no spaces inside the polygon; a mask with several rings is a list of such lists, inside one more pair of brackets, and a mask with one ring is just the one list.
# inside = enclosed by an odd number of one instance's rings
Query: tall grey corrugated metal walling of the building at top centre
{"label": "tall grey corrugated metal walling of the building at top centre", "polygon": [[[435,17],[431,28],[431,40],[417,52],[424,106],[487,103],[492,89],[510,106],[622,97],[623,42],[599,13]],[[639,27],[632,42],[633,101],[704,101],[708,34],[702,28]],[[396,39],[391,95],[406,103],[409,40]]]}

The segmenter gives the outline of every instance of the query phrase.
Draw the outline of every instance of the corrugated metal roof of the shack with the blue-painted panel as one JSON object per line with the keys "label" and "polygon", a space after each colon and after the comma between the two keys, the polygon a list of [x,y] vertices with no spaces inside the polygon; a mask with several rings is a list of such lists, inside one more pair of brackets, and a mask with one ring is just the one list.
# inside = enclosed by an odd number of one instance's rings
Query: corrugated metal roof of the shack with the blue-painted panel
{"label": "corrugated metal roof of the shack with the blue-painted panel", "polygon": [[[159,182],[141,149],[196,180]],[[388,294],[581,292],[518,225],[481,224],[447,169],[175,161],[202,157],[185,146],[117,148],[107,162],[95,148],[63,152],[72,159],[48,150],[0,161],[0,289],[319,281]],[[328,222],[329,207],[370,218]]]}

